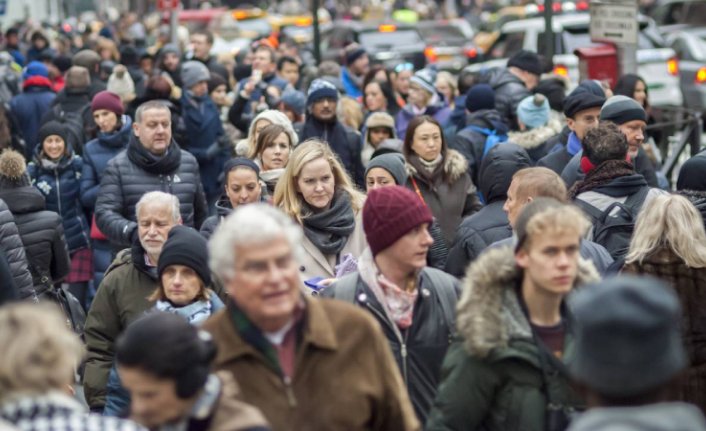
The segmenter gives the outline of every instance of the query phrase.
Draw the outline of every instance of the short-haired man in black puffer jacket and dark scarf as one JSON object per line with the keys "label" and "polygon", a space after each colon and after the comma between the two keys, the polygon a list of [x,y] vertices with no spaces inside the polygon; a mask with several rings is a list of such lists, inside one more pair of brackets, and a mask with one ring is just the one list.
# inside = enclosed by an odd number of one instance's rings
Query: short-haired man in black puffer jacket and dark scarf
{"label": "short-haired man in black puffer jacket and dark scarf", "polygon": [[96,201],[96,223],[114,247],[132,244],[135,207],[150,191],[175,195],[187,226],[198,229],[208,216],[198,162],[172,140],[169,107],[159,100],[143,103],[133,129],[127,149],[108,163]]}

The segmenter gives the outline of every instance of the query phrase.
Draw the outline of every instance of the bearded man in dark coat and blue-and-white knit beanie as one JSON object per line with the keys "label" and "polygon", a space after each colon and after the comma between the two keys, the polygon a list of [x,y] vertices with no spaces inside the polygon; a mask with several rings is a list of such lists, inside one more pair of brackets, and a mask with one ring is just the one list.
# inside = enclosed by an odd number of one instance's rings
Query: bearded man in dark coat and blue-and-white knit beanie
{"label": "bearded man in dark coat and blue-and-white knit beanie", "polygon": [[360,133],[343,125],[336,118],[338,90],[323,79],[316,79],[309,87],[306,105],[308,114],[303,127],[296,130],[299,142],[309,138],[320,138],[327,142],[338,155],[351,179],[361,188],[365,184],[363,149]]}

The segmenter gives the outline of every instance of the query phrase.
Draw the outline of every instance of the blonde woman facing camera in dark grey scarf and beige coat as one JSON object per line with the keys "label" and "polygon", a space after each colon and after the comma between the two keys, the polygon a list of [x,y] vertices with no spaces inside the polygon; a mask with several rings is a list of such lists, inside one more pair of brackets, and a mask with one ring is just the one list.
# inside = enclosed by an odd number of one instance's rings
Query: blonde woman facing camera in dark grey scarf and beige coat
{"label": "blonde woman facing camera in dark grey scarf and beige coat", "polygon": [[305,281],[335,277],[346,255],[357,259],[367,247],[364,200],[328,144],[309,139],[292,152],[274,204],[304,229],[300,270]]}

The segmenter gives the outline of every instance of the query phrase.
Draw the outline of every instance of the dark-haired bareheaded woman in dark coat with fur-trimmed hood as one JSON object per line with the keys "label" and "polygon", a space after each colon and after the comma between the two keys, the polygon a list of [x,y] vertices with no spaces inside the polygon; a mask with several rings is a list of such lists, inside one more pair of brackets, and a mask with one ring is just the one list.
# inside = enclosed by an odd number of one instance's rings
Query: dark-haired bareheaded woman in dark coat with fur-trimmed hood
{"label": "dark-haired bareheaded woman in dark coat with fur-trimmed hood", "polygon": [[409,173],[407,187],[429,206],[448,246],[463,217],[481,208],[468,175],[468,162],[448,148],[441,125],[428,115],[410,121],[403,150]]}

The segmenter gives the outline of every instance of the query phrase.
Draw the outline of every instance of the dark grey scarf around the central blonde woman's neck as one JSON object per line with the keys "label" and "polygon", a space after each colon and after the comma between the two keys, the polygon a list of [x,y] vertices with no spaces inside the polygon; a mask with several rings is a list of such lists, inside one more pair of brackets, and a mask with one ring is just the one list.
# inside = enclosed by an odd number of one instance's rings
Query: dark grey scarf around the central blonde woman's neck
{"label": "dark grey scarf around the central blonde woman's neck", "polygon": [[[305,204],[305,208],[309,209]],[[355,229],[355,214],[348,193],[333,196],[331,207],[325,211],[307,215],[303,219],[304,235],[324,255],[338,254]]]}

